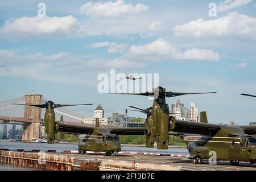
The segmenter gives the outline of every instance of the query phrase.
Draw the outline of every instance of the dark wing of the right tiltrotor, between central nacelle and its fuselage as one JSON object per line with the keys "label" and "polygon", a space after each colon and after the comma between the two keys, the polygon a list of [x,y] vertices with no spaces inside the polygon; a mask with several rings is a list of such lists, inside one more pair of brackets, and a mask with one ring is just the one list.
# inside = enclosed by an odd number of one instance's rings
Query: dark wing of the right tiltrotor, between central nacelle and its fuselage
{"label": "dark wing of the right tiltrotor, between central nacelle and its fuselage", "polygon": [[216,134],[219,130],[221,130],[220,125],[177,120],[175,122],[175,128],[170,131],[177,132],[177,133],[213,135],[213,134]]}

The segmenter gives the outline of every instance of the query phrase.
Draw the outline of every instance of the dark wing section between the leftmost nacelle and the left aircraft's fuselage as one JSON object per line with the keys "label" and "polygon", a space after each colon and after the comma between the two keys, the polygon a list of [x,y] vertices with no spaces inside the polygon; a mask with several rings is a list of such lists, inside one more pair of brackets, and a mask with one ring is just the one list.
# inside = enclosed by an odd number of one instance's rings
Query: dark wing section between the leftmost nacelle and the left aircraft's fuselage
{"label": "dark wing section between the leftmost nacelle and the left aircraft's fuselage", "polygon": [[88,126],[59,124],[59,129],[57,131],[64,132],[64,133],[88,134],[88,133],[92,133],[94,129],[95,129],[94,127],[88,127]]}

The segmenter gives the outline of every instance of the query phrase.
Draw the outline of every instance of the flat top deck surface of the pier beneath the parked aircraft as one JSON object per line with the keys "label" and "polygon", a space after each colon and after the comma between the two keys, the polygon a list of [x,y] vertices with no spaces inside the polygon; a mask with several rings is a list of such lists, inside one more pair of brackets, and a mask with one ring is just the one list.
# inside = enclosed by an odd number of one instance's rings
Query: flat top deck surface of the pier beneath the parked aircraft
{"label": "flat top deck surface of the pier beneath the parked aircraft", "polygon": [[[49,153],[56,155],[56,153]],[[104,154],[63,154],[71,155],[76,160],[86,159],[109,159],[122,162],[135,162],[146,164],[162,164],[170,165],[179,168],[180,170],[188,171],[256,171],[256,164],[250,164],[241,162],[240,166],[230,166],[229,162],[217,162],[217,165],[210,165],[207,160],[203,161],[203,164],[193,164],[188,158],[177,158],[171,156],[155,156],[155,155],[141,155],[141,154],[117,154],[117,156],[106,156]]]}

